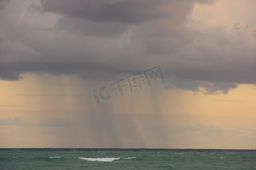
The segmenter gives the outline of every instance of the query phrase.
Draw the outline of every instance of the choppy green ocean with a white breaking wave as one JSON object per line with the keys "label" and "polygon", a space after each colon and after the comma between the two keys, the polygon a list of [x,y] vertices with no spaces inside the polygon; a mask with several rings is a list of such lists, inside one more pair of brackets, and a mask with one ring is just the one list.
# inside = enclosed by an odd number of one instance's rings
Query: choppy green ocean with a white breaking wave
{"label": "choppy green ocean with a white breaking wave", "polygon": [[256,169],[256,150],[1,148],[0,169]]}

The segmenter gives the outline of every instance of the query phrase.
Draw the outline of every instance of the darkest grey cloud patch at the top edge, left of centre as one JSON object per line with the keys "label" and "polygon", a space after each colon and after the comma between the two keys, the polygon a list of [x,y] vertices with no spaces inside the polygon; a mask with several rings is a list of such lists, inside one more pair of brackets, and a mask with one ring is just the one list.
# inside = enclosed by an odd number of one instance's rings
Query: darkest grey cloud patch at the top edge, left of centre
{"label": "darkest grey cloud patch at the top edge, left of centre", "polygon": [[115,36],[127,32],[129,24],[168,18],[163,5],[170,1],[42,1],[44,12],[63,15],[58,27],[80,36]]}

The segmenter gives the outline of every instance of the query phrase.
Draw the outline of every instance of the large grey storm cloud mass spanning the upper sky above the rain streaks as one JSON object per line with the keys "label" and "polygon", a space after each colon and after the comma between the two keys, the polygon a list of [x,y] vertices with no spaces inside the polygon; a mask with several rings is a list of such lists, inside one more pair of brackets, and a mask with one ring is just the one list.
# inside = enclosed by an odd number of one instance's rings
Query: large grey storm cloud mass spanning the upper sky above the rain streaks
{"label": "large grey storm cloud mass spanning the upper sky above the rain streaks", "polygon": [[[204,87],[212,94],[255,84],[255,40],[244,28],[188,29],[195,2],[212,1],[42,1],[27,3],[24,24],[15,19],[19,10],[10,11],[19,2],[6,3],[0,11],[0,78],[50,73],[113,80],[160,65],[166,88]],[[30,16],[33,22],[26,20]]]}

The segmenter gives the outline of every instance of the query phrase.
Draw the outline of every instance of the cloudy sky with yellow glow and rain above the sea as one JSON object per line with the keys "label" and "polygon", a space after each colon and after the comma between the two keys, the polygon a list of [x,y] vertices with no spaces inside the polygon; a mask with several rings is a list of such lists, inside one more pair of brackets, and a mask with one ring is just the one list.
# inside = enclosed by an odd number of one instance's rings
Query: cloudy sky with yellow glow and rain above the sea
{"label": "cloudy sky with yellow glow and rain above the sea", "polygon": [[255,6],[0,0],[0,147],[256,149]]}

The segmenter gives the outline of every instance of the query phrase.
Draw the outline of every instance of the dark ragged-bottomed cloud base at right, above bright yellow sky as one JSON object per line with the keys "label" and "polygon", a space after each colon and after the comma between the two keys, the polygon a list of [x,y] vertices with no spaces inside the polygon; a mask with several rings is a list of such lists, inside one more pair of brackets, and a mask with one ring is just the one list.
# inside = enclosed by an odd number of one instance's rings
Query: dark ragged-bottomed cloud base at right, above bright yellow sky
{"label": "dark ragged-bottomed cloud base at right, above bright yellow sky", "polygon": [[[237,88],[238,84],[256,84],[255,60],[240,65],[223,64],[219,61],[216,65],[208,66],[207,69],[199,66],[191,69],[167,69],[165,72],[166,88],[179,88],[184,90],[197,91],[204,87],[205,94],[213,94],[221,91],[228,94],[228,91]],[[224,65],[224,68],[220,68]]]}

